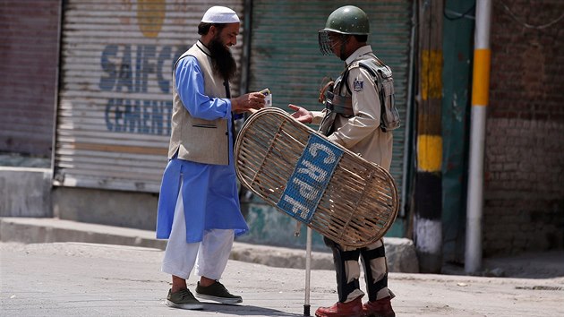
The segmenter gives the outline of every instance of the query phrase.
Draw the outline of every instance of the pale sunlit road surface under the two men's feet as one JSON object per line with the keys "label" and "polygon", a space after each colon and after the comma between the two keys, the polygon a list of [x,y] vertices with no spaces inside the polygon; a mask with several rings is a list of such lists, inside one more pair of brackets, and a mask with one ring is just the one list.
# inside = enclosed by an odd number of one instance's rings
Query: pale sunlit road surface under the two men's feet
{"label": "pale sunlit road surface under the two men's feet", "polygon": [[[0,316],[302,316],[304,271],[229,261],[222,282],[243,304],[164,304],[158,249],[0,243]],[[194,288],[196,278],[189,280]],[[312,270],[312,313],[337,298],[335,273]],[[390,273],[397,316],[564,316],[564,278]]]}

